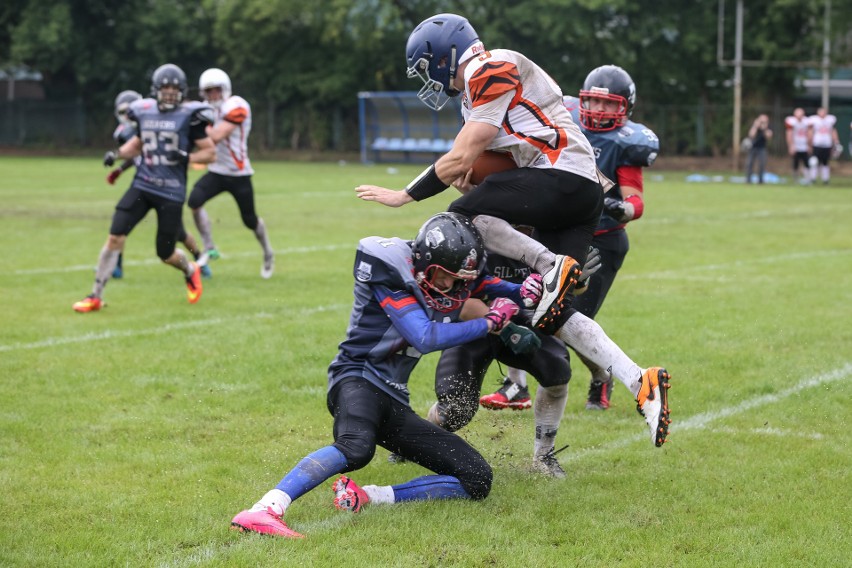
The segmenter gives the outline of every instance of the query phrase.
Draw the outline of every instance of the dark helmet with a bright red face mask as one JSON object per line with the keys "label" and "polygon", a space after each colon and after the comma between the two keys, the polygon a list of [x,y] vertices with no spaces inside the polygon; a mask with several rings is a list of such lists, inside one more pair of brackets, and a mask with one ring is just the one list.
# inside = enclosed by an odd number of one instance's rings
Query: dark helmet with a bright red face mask
{"label": "dark helmet with a bright red face mask", "polygon": [[[593,111],[590,99],[616,101],[615,112]],[[624,126],[633,114],[636,104],[636,85],[627,71],[617,65],[603,65],[593,69],[583,81],[580,90],[580,122],[589,130],[604,132]]]}

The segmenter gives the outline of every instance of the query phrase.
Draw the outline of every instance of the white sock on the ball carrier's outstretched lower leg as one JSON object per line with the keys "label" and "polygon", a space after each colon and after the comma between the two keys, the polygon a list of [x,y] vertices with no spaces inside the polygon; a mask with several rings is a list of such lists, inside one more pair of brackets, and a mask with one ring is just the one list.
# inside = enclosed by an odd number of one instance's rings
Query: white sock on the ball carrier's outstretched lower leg
{"label": "white sock on the ball carrier's outstretched lower leg", "polygon": [[607,336],[595,320],[574,312],[556,336],[598,367],[609,371],[627,387],[633,398],[639,394],[642,368]]}

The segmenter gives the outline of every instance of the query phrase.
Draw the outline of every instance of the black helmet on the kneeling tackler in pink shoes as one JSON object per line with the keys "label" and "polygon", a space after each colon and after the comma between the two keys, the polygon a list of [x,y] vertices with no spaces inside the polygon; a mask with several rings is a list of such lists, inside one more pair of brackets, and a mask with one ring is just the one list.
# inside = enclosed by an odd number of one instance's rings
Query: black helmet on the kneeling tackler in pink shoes
{"label": "black helmet on the kneeling tackler in pink shoes", "polygon": [[[440,312],[460,308],[470,297],[469,283],[485,269],[485,244],[470,219],[438,213],[420,227],[412,249],[414,278],[429,306]],[[433,285],[439,268],[456,278],[447,290]]]}

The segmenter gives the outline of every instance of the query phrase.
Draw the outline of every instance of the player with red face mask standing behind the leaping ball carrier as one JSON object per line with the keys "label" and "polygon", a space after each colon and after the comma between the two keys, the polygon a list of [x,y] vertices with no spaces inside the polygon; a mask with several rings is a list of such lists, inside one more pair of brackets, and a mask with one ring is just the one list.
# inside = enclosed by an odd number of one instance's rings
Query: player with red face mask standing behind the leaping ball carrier
{"label": "player with red face mask standing behind the leaping ball carrier", "polygon": [[[592,240],[592,246],[600,251],[601,268],[590,279],[588,289],[574,300],[577,311],[594,318],[630,248],[625,225],[641,217],[645,209],[642,168],[654,163],[660,142],[644,124],[630,120],[636,104],[636,86],[621,67],[604,65],[593,69],[583,82],[580,97],[566,96],[563,100],[592,145],[598,168],[616,181],[604,198],[604,211]],[[592,373],[586,408],[609,408],[612,376],[588,359],[580,359]],[[504,385],[501,390],[513,386]],[[516,390],[517,387],[513,392]]]}

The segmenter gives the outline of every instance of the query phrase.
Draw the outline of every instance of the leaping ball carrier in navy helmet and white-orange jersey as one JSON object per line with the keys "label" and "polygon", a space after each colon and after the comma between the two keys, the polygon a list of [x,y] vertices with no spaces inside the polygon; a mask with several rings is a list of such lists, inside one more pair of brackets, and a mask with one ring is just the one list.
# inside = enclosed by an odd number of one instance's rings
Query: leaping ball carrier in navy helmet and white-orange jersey
{"label": "leaping ball carrier in navy helmet and white-orange jersey", "polygon": [[[400,207],[456,185],[464,195],[449,210],[473,219],[485,246],[521,260],[542,275],[544,291],[533,324],[555,335],[627,387],[662,446],[668,435],[669,373],[641,368],[594,320],[572,306],[580,263],[613,185],[600,173],[588,140],[571,119],[559,86],[534,62],[506,49],[486,50],[462,16],[438,14],[412,31],[406,45],[408,76],[419,78],[420,99],[440,109],[463,95],[465,124],[452,149],[403,190],[355,188],[359,198]],[[472,186],[471,167],[485,150],[511,152],[519,166]],[[535,228],[530,238],[512,225]],[[560,414],[561,401],[550,412]]]}

